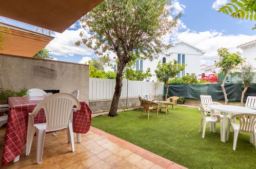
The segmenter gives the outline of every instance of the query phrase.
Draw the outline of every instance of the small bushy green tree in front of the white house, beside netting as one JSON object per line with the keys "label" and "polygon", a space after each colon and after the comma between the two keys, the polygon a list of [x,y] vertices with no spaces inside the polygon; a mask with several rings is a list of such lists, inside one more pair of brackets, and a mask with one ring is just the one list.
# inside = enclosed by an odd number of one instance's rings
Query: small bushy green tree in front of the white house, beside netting
{"label": "small bushy green tree in front of the white house, beside netting", "polygon": [[178,73],[185,69],[185,65],[178,64],[178,61],[173,59],[173,61],[166,62],[161,64],[161,61],[158,62],[158,65],[155,70],[155,75],[159,81],[165,83],[166,95],[165,99],[168,97],[169,90],[169,80],[175,78]]}

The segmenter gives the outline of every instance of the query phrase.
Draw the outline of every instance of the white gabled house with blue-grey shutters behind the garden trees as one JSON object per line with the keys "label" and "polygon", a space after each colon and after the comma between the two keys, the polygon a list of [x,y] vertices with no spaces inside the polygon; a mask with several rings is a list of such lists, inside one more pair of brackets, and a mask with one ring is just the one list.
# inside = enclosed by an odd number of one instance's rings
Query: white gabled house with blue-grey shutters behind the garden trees
{"label": "white gabled house with blue-grey shutters behind the garden trees", "polygon": [[[151,74],[153,75],[151,78],[146,79],[149,81],[157,81],[154,70],[156,70],[156,66],[158,62],[169,62],[173,59],[178,61],[178,64],[185,64],[184,71],[181,71],[178,75],[178,78],[186,75],[186,73],[195,73],[196,75],[201,74],[200,61],[201,56],[204,55],[204,51],[196,48],[184,41],[177,41],[172,44],[172,47],[166,51],[164,54],[160,54],[157,59],[152,61],[150,60],[136,60],[135,70],[143,70],[144,72],[150,68]],[[168,56],[166,56],[168,54]],[[113,71],[113,68],[116,68],[115,62],[111,61],[112,67],[105,67],[105,71]]]}

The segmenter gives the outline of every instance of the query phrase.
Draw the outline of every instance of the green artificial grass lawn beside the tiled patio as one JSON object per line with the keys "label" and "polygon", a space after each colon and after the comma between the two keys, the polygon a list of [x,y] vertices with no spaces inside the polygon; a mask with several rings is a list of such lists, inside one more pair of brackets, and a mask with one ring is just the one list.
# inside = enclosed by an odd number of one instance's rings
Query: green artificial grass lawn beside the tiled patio
{"label": "green artificial grass lawn beside the tiled patio", "polygon": [[158,118],[156,112],[150,112],[149,120],[146,113],[139,117],[141,111],[95,117],[92,125],[188,168],[256,167],[256,150],[249,142],[249,134],[239,134],[236,151],[232,150],[233,133],[230,132],[229,141],[221,141],[219,123],[216,133],[210,132],[207,125],[203,139],[198,109],[169,108],[168,114],[162,110]]}

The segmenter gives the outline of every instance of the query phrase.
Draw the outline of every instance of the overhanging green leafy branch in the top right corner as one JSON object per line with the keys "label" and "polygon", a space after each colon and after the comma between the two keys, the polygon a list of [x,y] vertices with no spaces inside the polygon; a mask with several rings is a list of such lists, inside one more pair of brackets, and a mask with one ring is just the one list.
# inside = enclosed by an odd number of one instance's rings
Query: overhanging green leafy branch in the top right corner
{"label": "overhanging green leafy branch in the top right corner", "polygon": [[[233,18],[256,20],[255,0],[231,0],[230,3],[221,7],[218,12],[223,12]],[[256,29],[256,25],[252,29]]]}

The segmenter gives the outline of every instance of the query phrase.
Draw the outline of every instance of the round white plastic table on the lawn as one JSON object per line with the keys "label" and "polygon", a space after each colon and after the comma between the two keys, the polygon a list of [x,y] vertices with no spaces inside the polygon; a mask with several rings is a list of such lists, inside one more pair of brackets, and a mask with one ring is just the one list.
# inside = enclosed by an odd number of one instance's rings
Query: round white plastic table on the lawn
{"label": "round white plastic table on the lawn", "polygon": [[256,114],[256,110],[240,107],[237,105],[209,105],[210,109],[213,109],[215,111],[223,112],[223,132],[222,132],[222,142],[226,142],[226,123],[227,123],[227,113],[233,113],[233,114],[239,114],[239,113],[251,113]]}

